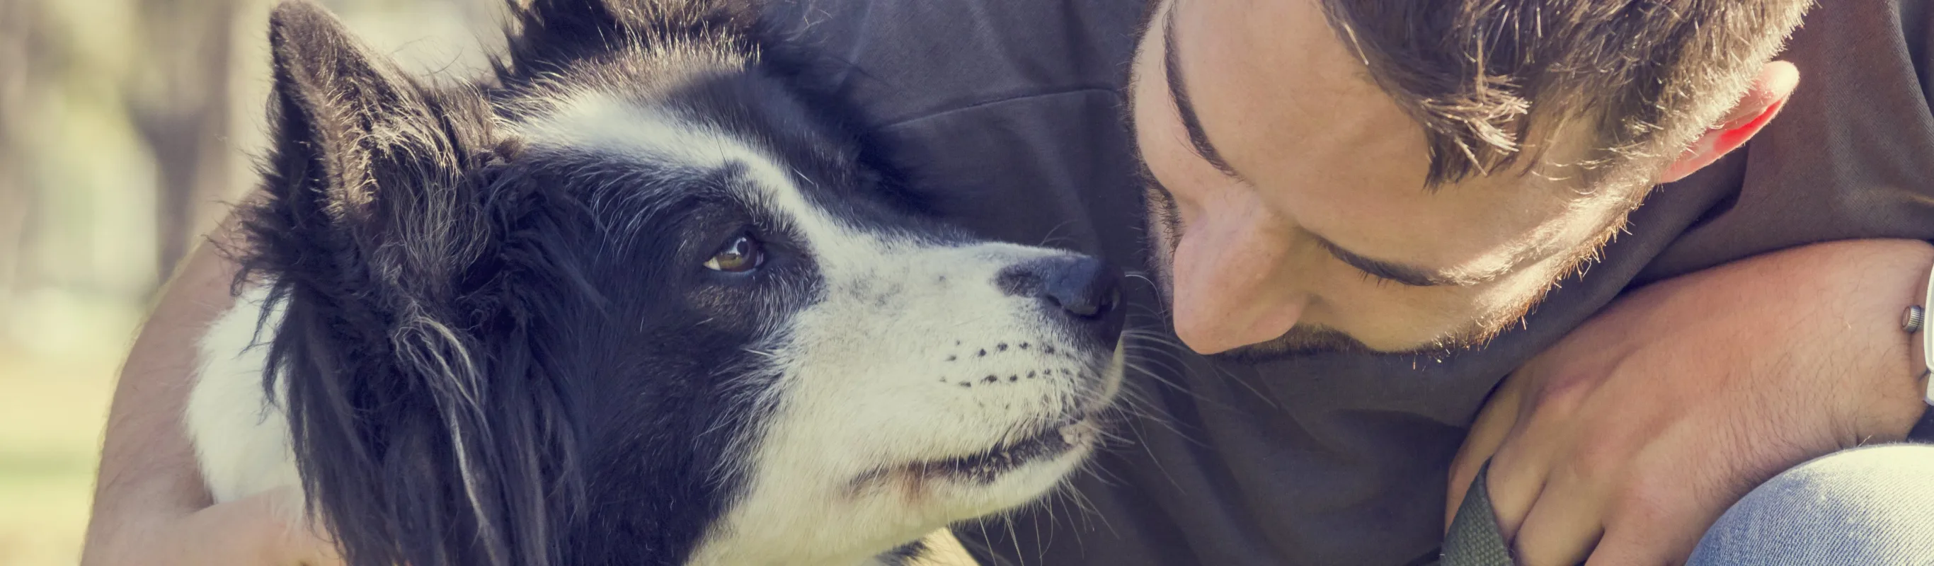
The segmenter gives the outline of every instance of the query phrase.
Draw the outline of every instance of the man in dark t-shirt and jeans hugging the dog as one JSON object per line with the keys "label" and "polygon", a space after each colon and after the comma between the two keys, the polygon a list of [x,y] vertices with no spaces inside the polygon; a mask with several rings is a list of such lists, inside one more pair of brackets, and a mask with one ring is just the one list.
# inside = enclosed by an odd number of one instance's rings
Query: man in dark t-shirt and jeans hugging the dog
{"label": "man in dark t-shirt and jeans hugging the dog", "polygon": [[[984,564],[1427,562],[1485,462],[1524,564],[1915,556],[1934,537],[1890,522],[1934,495],[1891,481],[1934,473],[1934,448],[1773,477],[1899,440],[1926,410],[1899,315],[1934,267],[1934,10],[1804,4],[801,0],[772,17],[832,62],[923,203],[1149,265],[1139,301],[1166,309],[1141,325],[1172,319],[1193,350],[1133,344],[1133,442],[1066,500],[955,529]],[[207,317],[176,296],[151,328]],[[91,556],[248,516],[182,495],[178,406],[139,398],[186,379],[164,338],[137,344],[103,460],[97,518],[135,520],[97,520]],[[1839,506],[1801,504],[1820,495]],[[1750,547],[1768,539],[1793,547]]]}

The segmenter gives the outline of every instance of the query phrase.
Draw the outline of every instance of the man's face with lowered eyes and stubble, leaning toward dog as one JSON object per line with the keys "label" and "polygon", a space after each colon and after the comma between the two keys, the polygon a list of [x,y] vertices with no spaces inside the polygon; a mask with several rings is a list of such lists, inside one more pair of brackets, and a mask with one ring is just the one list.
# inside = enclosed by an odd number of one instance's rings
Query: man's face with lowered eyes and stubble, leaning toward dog
{"label": "man's face with lowered eyes and stubble, leaning toward dog", "polygon": [[1576,131],[1534,135],[1534,164],[1427,189],[1421,126],[1317,0],[1162,2],[1147,29],[1129,118],[1155,269],[1197,352],[1481,342],[1630,209],[1630,189],[1567,180],[1588,155]]}

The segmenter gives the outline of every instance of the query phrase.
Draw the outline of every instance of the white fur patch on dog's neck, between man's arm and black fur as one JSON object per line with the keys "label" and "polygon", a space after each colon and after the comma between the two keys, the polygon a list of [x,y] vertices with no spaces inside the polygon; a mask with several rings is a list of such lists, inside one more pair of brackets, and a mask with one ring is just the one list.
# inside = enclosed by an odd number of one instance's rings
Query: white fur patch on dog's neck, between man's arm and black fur
{"label": "white fur patch on dog's neck, between man's arm and black fur", "polygon": [[[271,404],[261,388],[269,363],[269,336],[282,311],[269,313],[269,332],[255,344],[255,323],[267,288],[251,288],[234,307],[215,319],[199,344],[201,371],[188,396],[188,433],[195,440],[201,477],[217,502],[255,493],[296,487],[277,502],[290,518],[302,512],[302,479],[288,444],[288,419],[280,404]],[[280,386],[278,386],[280,390]]]}

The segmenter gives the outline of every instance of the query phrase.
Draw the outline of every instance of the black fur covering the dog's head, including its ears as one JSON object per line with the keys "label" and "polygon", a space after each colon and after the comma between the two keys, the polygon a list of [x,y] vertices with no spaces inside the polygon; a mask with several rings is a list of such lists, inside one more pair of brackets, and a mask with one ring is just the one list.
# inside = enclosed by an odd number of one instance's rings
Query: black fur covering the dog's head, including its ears
{"label": "black fur covering the dog's head, including its ears", "polygon": [[[913,220],[839,110],[808,110],[822,99],[760,60],[750,8],[514,15],[495,77],[433,87],[321,8],[277,8],[275,147],[236,251],[286,309],[265,386],[288,388],[311,512],[350,564],[681,564],[741,485],[723,458],[756,433],[745,350],[812,299],[814,265],[733,203],[735,170],[669,180],[520,145],[493,118],[559,75],[656,89],[787,151],[835,191],[816,201]],[[770,269],[685,269],[731,226],[774,232]]]}

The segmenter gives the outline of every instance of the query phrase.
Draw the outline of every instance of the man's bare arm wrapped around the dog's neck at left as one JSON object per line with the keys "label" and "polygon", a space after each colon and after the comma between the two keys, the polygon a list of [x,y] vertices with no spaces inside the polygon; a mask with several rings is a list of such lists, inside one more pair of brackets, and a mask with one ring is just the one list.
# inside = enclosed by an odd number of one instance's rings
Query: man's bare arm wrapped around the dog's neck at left
{"label": "man's bare arm wrapped around the dog's neck at left", "polygon": [[[222,241],[224,226],[215,234]],[[122,367],[81,564],[337,564],[282,522],[273,495],[211,506],[182,417],[195,340],[234,299],[234,263],[199,245],[168,282]]]}

